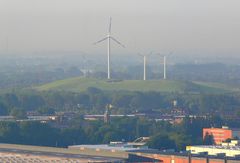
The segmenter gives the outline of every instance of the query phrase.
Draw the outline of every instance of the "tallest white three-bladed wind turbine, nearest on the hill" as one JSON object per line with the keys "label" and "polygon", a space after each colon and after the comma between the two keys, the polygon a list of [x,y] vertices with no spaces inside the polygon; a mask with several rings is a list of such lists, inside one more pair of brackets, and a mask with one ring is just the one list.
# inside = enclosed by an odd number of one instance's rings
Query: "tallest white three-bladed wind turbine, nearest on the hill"
{"label": "tallest white three-bladed wind turbine, nearest on the hill", "polygon": [[113,41],[115,41],[117,44],[119,44],[119,45],[121,45],[123,48],[125,48],[125,46],[122,44],[122,43],[120,43],[117,39],[115,39],[114,37],[112,37],[112,35],[111,35],[111,23],[112,23],[112,18],[110,17],[110,20],[109,20],[109,28],[108,28],[108,34],[107,34],[107,37],[105,37],[105,38],[103,38],[103,39],[101,39],[101,40],[99,40],[99,41],[97,41],[97,42],[95,42],[94,44],[96,45],[96,44],[98,44],[98,43],[100,43],[100,42],[102,42],[102,41],[105,41],[105,40],[107,40],[107,42],[108,42],[108,44],[107,44],[107,56],[108,56],[108,58],[107,58],[107,62],[108,62],[108,76],[107,76],[107,78],[108,79],[111,79],[111,69],[110,69],[110,60],[111,60],[111,40],[113,40]]}

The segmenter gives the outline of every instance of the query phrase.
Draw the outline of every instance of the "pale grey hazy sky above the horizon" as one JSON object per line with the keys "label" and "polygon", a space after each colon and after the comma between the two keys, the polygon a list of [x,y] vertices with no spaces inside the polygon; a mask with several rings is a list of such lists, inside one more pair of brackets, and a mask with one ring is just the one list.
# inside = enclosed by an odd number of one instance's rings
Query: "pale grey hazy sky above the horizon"
{"label": "pale grey hazy sky above the horizon", "polygon": [[113,53],[240,52],[240,0],[0,0],[0,52],[105,53],[110,16]]}

